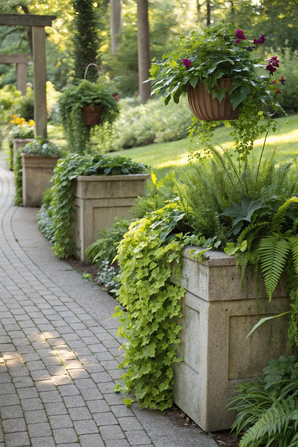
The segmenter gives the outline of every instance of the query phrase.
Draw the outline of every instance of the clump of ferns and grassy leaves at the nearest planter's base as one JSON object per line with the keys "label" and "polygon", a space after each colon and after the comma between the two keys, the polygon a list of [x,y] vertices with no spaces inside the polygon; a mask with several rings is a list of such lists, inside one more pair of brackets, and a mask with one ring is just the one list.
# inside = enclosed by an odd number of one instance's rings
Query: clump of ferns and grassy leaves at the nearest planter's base
{"label": "clump of ferns and grassy leaves at the nearest planter's base", "polygon": [[238,413],[232,429],[244,432],[239,447],[297,446],[298,358],[270,360],[263,378],[237,385],[230,408]]}

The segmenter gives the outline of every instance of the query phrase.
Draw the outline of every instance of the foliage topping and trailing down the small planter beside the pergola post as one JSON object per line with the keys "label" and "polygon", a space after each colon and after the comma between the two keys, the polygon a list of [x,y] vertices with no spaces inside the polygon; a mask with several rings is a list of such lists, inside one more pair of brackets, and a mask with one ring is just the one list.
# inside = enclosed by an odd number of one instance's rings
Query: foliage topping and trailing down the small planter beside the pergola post
{"label": "foliage topping and trailing down the small planter beside the pergola post", "polygon": [[35,138],[33,141],[27,143],[24,148],[20,148],[17,151],[16,165],[14,167],[15,185],[16,185],[16,195],[15,204],[22,205],[22,177],[23,177],[23,166],[21,152],[25,154],[35,154],[39,156],[48,157],[50,155],[62,155],[61,148],[54,143],[41,137]]}

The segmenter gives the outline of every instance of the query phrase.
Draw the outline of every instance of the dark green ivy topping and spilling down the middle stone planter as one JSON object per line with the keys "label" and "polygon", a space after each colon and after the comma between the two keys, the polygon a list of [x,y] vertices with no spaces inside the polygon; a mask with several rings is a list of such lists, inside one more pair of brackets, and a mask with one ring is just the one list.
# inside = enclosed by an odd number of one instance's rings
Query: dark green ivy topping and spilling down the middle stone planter
{"label": "dark green ivy topping and spilling down the middle stone planter", "polygon": [[[147,166],[136,163],[126,157],[108,157],[102,155],[69,154],[61,158],[55,166],[53,186],[51,188],[50,206],[42,207],[43,214],[38,214],[38,222],[44,236],[50,238],[55,254],[59,258],[69,258],[75,253],[72,242],[75,222],[74,195],[71,181],[78,175],[125,175],[143,173]],[[48,194],[48,193],[47,193]],[[45,222],[47,213],[50,224]]]}

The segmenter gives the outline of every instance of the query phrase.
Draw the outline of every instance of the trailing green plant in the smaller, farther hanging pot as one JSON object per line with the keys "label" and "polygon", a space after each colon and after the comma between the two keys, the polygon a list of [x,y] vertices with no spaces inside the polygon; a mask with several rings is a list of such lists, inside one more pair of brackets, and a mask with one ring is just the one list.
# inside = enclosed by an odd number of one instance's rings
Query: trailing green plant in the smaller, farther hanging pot
{"label": "trailing green plant in the smaller, farther hanging pot", "polygon": [[[97,82],[80,80],[77,85],[68,85],[59,97],[59,110],[68,148],[72,152],[90,152],[91,126],[84,121],[82,108],[102,105],[101,123],[111,125],[119,113],[115,84],[100,75]],[[108,131],[109,129],[106,129]]]}

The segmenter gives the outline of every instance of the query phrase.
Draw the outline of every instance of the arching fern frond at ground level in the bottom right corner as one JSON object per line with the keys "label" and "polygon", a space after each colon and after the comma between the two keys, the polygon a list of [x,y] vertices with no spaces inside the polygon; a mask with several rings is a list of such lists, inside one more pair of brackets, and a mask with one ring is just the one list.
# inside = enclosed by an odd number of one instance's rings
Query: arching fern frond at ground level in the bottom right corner
{"label": "arching fern frond at ground level in the bottom right corner", "polygon": [[239,447],[264,445],[269,439],[272,445],[274,445],[272,441],[277,440],[280,434],[282,434],[283,440],[288,439],[288,441],[291,441],[296,431],[295,424],[292,424],[292,422],[298,418],[298,409],[296,407],[297,401],[291,396],[287,399],[276,401],[255,425],[244,433]]}

